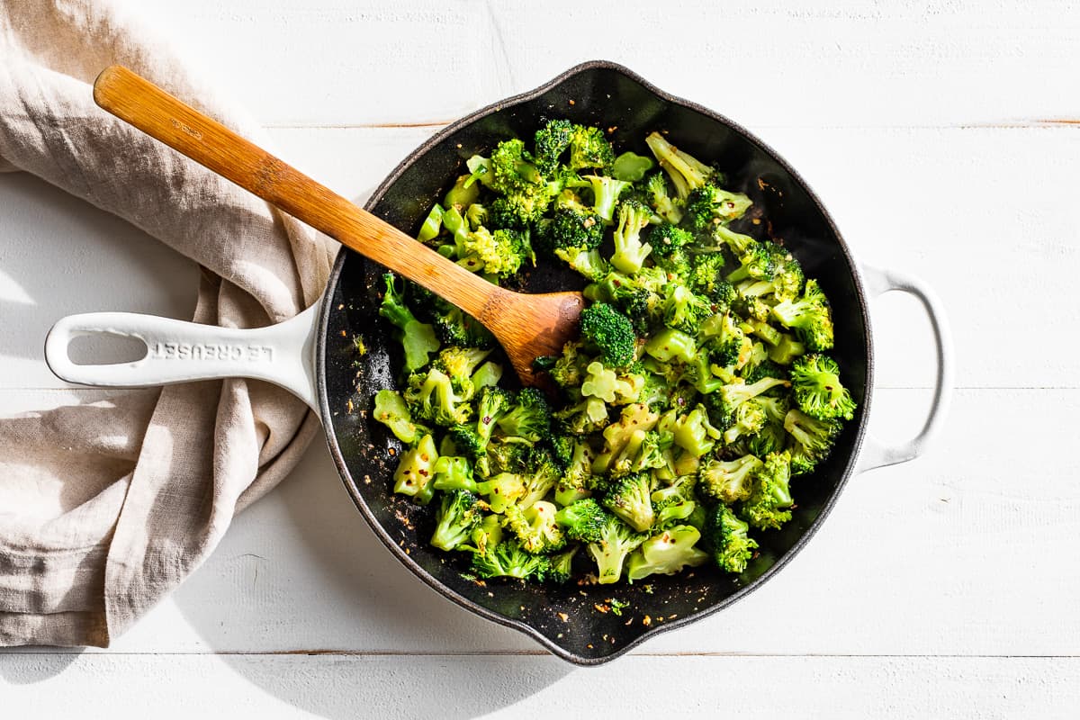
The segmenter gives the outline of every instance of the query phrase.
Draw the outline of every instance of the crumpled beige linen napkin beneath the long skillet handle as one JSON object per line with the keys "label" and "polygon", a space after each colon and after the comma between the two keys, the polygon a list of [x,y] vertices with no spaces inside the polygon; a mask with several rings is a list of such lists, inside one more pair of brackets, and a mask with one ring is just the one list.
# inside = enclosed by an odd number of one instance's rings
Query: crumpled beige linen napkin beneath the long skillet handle
{"label": "crumpled beige linen napkin beneath the long skillet handle", "polygon": [[[110,0],[0,0],[0,169],[44,178],[198,261],[197,322],[281,322],[318,298],[332,243],[93,103],[96,74],[120,63],[266,142],[167,47]],[[285,391],[243,380],[0,419],[0,644],[108,644],[318,427]]]}

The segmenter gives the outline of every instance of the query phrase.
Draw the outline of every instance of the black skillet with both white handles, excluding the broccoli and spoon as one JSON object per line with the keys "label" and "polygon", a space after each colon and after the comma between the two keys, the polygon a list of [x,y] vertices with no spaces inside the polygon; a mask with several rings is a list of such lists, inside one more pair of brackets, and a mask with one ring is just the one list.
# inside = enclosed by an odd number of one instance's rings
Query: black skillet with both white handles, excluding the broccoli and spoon
{"label": "black skillet with both white handles, excluding the broccoli and spoon", "polygon": [[[400,350],[388,341],[390,328],[377,312],[383,271],[349,250],[338,255],[322,301],[281,325],[230,330],[129,313],[76,315],[50,331],[46,361],[60,378],[85,384],[145,386],[243,376],[292,390],[320,411],[330,453],[356,507],[402,563],[455,602],[529,635],[571,663],[605,663],[657,633],[710,615],[759,587],[788,562],[824,521],[852,473],[921,452],[944,419],[951,385],[945,316],[934,294],[920,282],[858,266],[816,196],[765,144],[730,120],[667,95],[611,63],[579,65],[532,92],[447,126],[390,174],[367,209],[415,233],[432,203],[462,172],[464,159],[488,152],[509,137],[529,138],[543,119],[556,117],[610,128],[617,147],[642,154],[649,154],[644,137],[650,131],[666,132],[679,147],[717,163],[728,171],[729,185],[747,193],[768,220],[751,226],[751,232],[781,239],[833,302],[833,355],[859,410],[818,472],[793,483],[798,506],[792,521],[780,531],[759,533],[760,553],[739,576],[699,568],[635,585],[478,583],[468,575],[461,558],[431,548],[427,540],[434,526],[433,508],[417,507],[391,492],[401,446],[366,411],[376,392],[395,388],[394,368],[401,366]],[[580,277],[570,272],[534,272],[522,289],[543,293],[580,286]],[[936,393],[926,426],[918,437],[897,447],[865,436],[874,371],[867,297],[891,289],[912,293],[922,301],[935,330],[939,357]],[[148,354],[129,364],[73,364],[67,354],[71,336],[91,332],[139,338]],[[363,356],[356,353],[357,336],[368,349]],[[598,611],[596,606],[607,604],[608,598],[629,607],[620,615]]]}

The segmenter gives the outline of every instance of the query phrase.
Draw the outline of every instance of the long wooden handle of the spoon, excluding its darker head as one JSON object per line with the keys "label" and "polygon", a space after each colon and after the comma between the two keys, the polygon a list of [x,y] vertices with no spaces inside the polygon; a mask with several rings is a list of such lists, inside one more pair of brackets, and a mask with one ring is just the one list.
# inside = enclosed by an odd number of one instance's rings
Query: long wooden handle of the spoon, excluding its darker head
{"label": "long wooden handle of the spoon, excluding its darker head", "polygon": [[97,77],[94,100],[151,137],[473,316],[483,316],[488,301],[507,293],[125,67],[113,65]]}

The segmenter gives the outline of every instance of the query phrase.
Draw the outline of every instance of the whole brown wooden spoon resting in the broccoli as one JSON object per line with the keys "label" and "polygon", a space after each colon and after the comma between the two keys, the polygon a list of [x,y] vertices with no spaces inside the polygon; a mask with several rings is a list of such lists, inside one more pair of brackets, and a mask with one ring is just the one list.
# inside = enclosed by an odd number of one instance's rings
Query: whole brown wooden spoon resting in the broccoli
{"label": "whole brown wooden spoon resting in the broccoli", "polygon": [[225,125],[125,67],[106,68],[94,101],[364,257],[446,298],[484,324],[522,382],[536,385],[532,361],[558,355],[578,331],[580,293],[523,295],[474,275]]}

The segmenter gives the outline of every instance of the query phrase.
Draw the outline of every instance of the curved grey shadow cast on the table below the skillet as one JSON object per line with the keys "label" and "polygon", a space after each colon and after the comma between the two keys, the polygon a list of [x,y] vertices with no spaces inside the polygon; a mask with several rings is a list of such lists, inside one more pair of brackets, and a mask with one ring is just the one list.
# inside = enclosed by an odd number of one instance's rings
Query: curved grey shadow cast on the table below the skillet
{"label": "curved grey shadow cast on the table below the skillet", "polygon": [[[517,633],[443,598],[397,562],[356,511],[322,437],[274,495],[273,517],[257,503],[173,595],[190,626],[224,651],[220,660],[268,694],[335,720],[356,717],[370,703],[387,717],[472,718],[573,671]],[[280,527],[282,542],[302,545],[278,552],[300,558],[302,575],[258,589],[273,597],[258,603],[259,617],[242,604],[247,593],[221,597],[222,588],[255,582],[244,570],[254,566],[239,563],[262,560],[247,557],[249,551],[243,559],[227,557],[230,542],[246,549],[248,535],[267,535],[251,522]],[[222,583],[222,574],[237,582]],[[350,615],[355,624],[341,627]],[[260,649],[245,652],[252,638]],[[268,653],[267,646],[286,649]],[[515,654],[499,654],[508,651]]]}

